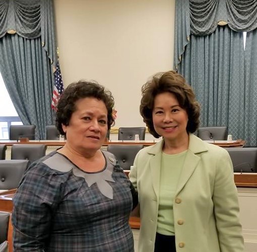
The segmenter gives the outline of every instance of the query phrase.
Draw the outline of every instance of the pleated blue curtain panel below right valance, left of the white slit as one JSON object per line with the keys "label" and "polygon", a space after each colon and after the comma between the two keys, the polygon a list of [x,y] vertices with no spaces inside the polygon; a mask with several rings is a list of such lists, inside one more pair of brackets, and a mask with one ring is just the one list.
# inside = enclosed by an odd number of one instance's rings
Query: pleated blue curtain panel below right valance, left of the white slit
{"label": "pleated blue curtain panel below right valance, left of the white slit", "polygon": [[243,34],[227,26],[199,37],[191,35],[178,72],[201,104],[201,125],[225,125],[234,139],[249,139],[244,130],[245,87]]}

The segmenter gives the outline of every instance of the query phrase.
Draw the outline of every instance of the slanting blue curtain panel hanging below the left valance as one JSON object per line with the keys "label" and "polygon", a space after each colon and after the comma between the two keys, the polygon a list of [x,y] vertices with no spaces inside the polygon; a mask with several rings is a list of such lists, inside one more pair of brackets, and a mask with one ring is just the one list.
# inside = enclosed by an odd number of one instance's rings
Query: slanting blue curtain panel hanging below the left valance
{"label": "slanting blue curtain panel hanging below the left valance", "polygon": [[41,38],[17,34],[0,39],[0,71],[24,124],[36,125],[36,139],[45,139],[45,126],[54,121],[50,108],[53,74]]}

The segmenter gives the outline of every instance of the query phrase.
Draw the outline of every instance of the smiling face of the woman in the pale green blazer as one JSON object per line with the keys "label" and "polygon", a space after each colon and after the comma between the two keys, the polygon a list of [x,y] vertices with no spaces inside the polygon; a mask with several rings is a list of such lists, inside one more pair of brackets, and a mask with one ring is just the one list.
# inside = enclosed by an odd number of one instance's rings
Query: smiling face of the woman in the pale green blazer
{"label": "smiling face of the woman in the pale green blazer", "polygon": [[176,96],[165,92],[156,95],[152,112],[155,131],[166,140],[187,138],[187,112],[179,106]]}

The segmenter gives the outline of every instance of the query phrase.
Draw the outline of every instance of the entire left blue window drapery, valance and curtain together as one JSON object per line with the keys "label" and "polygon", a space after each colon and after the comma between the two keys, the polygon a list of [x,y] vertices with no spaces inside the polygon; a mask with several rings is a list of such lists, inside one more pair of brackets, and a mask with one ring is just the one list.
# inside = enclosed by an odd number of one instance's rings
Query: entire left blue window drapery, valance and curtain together
{"label": "entire left blue window drapery, valance and curtain together", "polygon": [[1,0],[0,71],[24,124],[45,139],[54,123],[51,97],[57,65],[52,0]]}

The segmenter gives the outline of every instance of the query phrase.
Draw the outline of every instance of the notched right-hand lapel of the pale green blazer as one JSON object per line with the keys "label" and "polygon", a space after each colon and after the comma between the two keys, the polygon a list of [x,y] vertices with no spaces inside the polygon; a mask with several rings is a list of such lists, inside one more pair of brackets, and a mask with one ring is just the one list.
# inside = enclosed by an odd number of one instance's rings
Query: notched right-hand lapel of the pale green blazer
{"label": "notched right-hand lapel of the pale green blazer", "polygon": [[201,158],[196,154],[206,151],[208,151],[208,149],[203,145],[203,141],[195,135],[190,134],[188,151],[177,184],[175,195],[177,195],[182,190],[188,179],[191,177],[192,173],[194,173],[195,169],[197,168]]}

